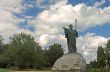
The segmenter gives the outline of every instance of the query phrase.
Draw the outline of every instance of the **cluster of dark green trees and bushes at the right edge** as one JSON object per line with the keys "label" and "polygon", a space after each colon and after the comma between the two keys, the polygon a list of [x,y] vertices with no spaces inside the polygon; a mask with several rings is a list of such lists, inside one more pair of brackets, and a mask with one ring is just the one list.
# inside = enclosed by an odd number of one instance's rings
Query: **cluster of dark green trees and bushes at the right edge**
{"label": "cluster of dark green trees and bushes at the right edge", "polygon": [[105,66],[110,67],[110,40],[108,40],[105,48],[102,46],[98,47],[97,50],[97,61],[92,61],[91,66],[94,68],[104,68]]}

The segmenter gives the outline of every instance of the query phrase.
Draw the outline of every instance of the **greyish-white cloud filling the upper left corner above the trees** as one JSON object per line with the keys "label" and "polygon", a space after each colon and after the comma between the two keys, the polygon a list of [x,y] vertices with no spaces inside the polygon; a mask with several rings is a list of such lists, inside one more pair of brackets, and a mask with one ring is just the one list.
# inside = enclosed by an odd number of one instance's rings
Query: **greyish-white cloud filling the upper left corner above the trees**
{"label": "greyish-white cloud filling the upper left corner above the trees", "polygon": [[20,19],[13,14],[22,12],[21,2],[21,0],[0,0],[0,34],[5,38],[5,42],[9,41],[8,38],[12,34],[30,32],[17,26],[24,19]]}

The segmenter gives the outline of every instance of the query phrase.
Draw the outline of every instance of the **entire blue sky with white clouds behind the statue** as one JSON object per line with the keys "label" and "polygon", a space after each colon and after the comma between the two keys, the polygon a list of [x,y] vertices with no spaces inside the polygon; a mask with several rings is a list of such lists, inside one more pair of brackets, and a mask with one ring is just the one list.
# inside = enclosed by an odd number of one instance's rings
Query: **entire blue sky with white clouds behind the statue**
{"label": "entire blue sky with white clouds behind the statue", "polygon": [[0,34],[31,34],[42,48],[60,43],[67,52],[62,27],[77,19],[78,53],[87,63],[96,60],[97,47],[110,39],[110,0],[0,0]]}

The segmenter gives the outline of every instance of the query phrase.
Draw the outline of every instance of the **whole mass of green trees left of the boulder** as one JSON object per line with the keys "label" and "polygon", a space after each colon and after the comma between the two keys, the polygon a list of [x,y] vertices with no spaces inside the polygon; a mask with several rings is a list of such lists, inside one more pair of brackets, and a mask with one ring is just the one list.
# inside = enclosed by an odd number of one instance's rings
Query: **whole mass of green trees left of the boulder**
{"label": "whole mass of green trees left of the boulder", "polygon": [[15,34],[10,40],[4,43],[0,36],[0,68],[50,68],[64,54],[61,44],[42,49],[30,34]]}

